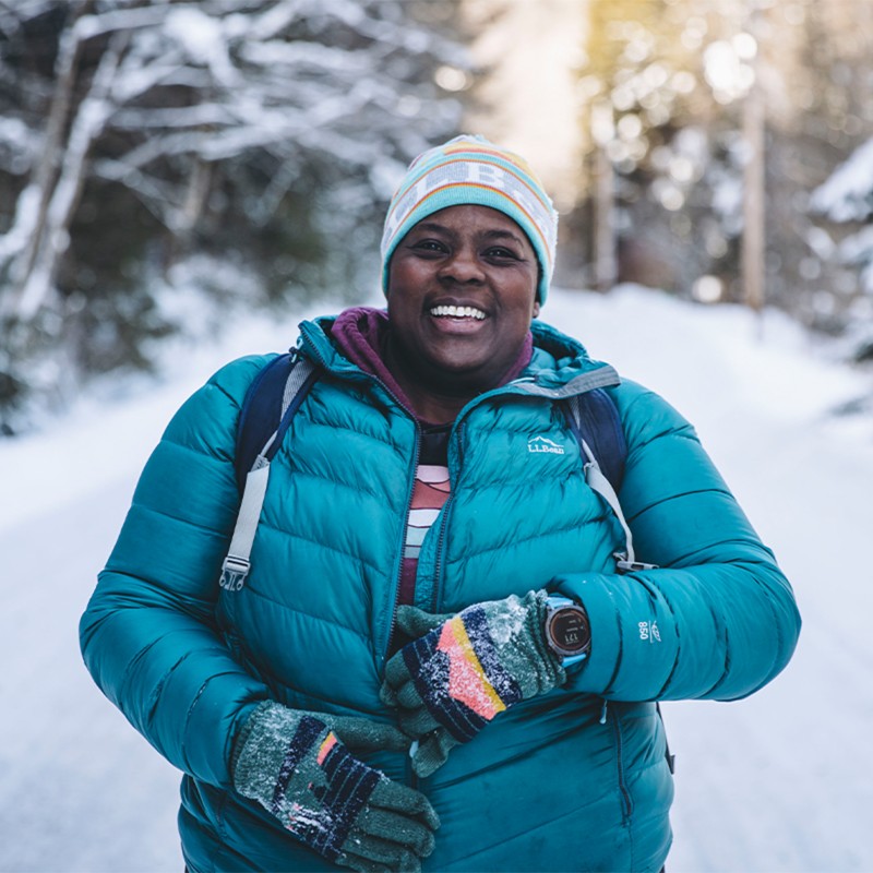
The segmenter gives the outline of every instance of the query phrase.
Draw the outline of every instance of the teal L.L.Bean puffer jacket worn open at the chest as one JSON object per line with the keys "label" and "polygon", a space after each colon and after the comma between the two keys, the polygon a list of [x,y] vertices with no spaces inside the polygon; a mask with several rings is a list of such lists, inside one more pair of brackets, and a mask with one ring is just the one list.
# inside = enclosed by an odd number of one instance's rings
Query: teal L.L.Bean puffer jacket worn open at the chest
{"label": "teal L.L.Bean puffer jacket worn open at the chest", "polygon": [[[259,701],[392,719],[379,687],[420,434],[336,351],[330,325],[301,325],[303,352],[326,372],[273,464],[244,587],[222,590],[218,576],[239,505],[239,408],[263,357],[227,366],[176,415],[82,619],[98,685],[186,773],[192,871],[333,869],[232,790],[232,742]],[[787,663],[800,620],[691,426],[575,340],[541,323],[534,334],[522,376],[455,422],[452,493],[424,540],[416,597],[450,612],[561,591],[588,610],[590,658],[428,779],[414,781],[403,755],[362,757],[439,813],[426,870],[657,871],[672,781],[651,702],[751,694]],[[621,527],[585,483],[553,403],[597,386],[610,386],[624,424],[620,497],[637,553],[661,569],[615,573]],[[539,438],[561,451],[530,451]]]}

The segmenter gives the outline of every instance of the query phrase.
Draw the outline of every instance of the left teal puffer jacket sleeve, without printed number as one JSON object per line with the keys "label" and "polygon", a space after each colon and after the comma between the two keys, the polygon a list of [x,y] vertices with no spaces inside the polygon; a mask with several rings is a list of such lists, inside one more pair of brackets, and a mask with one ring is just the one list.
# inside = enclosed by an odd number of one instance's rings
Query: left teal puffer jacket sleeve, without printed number
{"label": "left teal puffer jacket sleeve, without printed number", "polygon": [[264,361],[228,364],[176,414],[80,625],[85,665],[107,697],[171,764],[220,786],[230,785],[237,730],[268,696],[215,624],[239,506],[240,400]]}

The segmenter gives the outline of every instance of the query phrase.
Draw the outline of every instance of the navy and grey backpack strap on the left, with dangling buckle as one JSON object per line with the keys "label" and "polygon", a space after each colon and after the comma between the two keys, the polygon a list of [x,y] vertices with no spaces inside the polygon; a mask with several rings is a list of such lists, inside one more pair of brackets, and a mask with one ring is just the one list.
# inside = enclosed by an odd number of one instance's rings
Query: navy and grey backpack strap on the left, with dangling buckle
{"label": "navy and grey backpack strap on the left, with dangling buckle", "polygon": [[274,358],[249,386],[240,410],[235,465],[242,501],[218,584],[238,591],[251,567],[250,555],[270,479],[270,463],[295,412],[320,372],[296,352]]}

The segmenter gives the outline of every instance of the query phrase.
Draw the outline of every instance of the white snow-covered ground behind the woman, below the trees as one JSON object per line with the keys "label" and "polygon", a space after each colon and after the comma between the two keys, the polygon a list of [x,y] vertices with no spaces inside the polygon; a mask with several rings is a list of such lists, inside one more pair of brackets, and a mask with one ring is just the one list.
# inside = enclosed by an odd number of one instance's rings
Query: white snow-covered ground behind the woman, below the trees
{"label": "white snow-covered ground behind the woman, below the trees", "polygon": [[[794,660],[756,696],[665,707],[670,873],[873,871],[873,421],[830,415],[869,375],[777,315],[634,288],[553,292],[543,315],[694,421],[804,617]],[[181,871],[178,774],[93,685],[76,625],[168,417],[226,359],[289,345],[296,321],[180,347],[163,384],[0,442],[0,871]]]}

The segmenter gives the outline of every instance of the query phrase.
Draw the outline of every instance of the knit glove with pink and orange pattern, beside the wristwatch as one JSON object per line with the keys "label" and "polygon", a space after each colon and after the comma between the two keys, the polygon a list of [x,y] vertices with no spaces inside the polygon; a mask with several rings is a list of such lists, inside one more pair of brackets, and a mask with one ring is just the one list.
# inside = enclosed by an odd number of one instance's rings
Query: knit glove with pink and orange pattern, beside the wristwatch
{"label": "knit glove with pink and orange pattern, beside the wristwatch", "polygon": [[397,626],[419,638],[385,665],[380,696],[419,740],[412,753],[419,776],[430,776],[499,713],[566,681],[546,644],[546,598],[545,591],[511,595],[454,617],[398,607]]}

